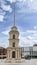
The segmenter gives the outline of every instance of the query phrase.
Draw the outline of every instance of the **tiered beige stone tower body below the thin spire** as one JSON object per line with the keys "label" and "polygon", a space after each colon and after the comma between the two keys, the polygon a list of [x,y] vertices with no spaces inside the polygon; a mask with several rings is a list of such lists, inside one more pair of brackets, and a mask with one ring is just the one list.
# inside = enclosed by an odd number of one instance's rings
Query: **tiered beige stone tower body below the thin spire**
{"label": "tiered beige stone tower body below the thin spire", "polygon": [[9,32],[7,60],[11,62],[17,62],[21,60],[21,49],[19,47],[19,31],[16,26],[13,26]]}

